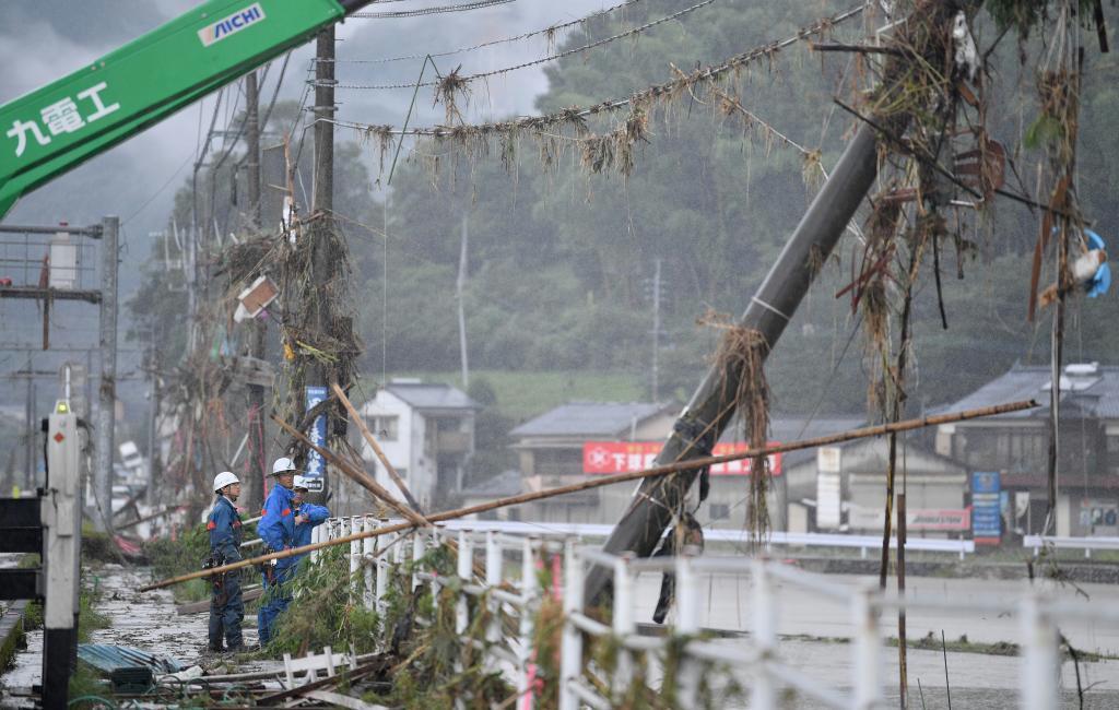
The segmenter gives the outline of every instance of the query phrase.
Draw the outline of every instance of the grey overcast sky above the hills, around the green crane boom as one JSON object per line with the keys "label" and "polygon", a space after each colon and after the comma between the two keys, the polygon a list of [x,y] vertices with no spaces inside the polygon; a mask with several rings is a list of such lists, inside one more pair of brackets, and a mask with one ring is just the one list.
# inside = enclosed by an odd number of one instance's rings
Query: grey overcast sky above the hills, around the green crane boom
{"label": "grey overcast sky above the hills, around the green crane boom", "polygon": [[[0,2],[0,102],[43,86],[93,61],[160,23],[199,4],[189,0],[2,0]],[[453,0],[406,0],[382,4],[378,10],[453,4]],[[350,19],[339,28],[338,57],[378,58],[462,46],[540,29],[575,19],[617,0],[517,0],[509,4],[408,19]],[[534,59],[547,53],[544,37],[439,59],[450,72],[460,63],[463,73],[485,72]],[[281,87],[281,97],[300,98],[311,67],[312,46],[294,51]],[[391,65],[340,64],[338,77],[354,83],[414,82],[422,60]],[[270,97],[279,61],[264,86]],[[535,97],[547,88],[543,67],[524,69],[489,84],[476,94],[471,120],[532,113]],[[338,92],[339,116],[367,123],[399,125],[412,97],[410,89],[393,92]],[[126,263],[147,255],[147,235],[162,229],[175,189],[189,176],[197,150],[198,126],[208,123],[215,97],[185,108],[68,176],[26,196],[8,216],[9,223],[90,223],[102,215],[125,220]],[[225,102],[219,124],[232,110]],[[416,124],[440,120],[430,89],[417,102]],[[229,114],[232,115],[232,113]],[[340,131],[341,140],[351,134]],[[170,183],[169,183],[170,181]],[[166,188],[163,186],[167,186]],[[147,203],[147,207],[144,205]],[[139,214],[138,214],[139,212]]]}

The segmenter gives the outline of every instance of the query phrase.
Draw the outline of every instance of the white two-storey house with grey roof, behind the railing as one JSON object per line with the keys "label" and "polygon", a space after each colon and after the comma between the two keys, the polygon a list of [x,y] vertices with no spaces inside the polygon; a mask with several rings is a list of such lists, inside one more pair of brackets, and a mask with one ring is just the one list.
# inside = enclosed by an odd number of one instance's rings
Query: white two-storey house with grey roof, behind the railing
{"label": "white two-storey house with grey roof, behind the railing", "polygon": [[[455,499],[474,453],[474,414],[480,406],[450,385],[394,379],[361,407],[361,417],[416,501],[425,509]],[[365,442],[361,457],[377,482],[404,495]]]}

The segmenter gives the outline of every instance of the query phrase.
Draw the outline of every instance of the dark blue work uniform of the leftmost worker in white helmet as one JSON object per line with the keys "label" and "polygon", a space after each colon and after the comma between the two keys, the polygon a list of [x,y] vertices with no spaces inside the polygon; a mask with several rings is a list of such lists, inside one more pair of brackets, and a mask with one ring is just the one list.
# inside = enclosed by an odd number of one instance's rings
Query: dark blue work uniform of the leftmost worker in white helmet
{"label": "dark blue work uniform of the leftmost worker in white helmet", "polygon": [[[206,518],[206,530],[209,531],[210,553],[215,564],[241,561],[241,515],[229,499],[224,495],[217,499]],[[245,618],[241,571],[223,572],[210,577],[210,649],[222,649],[224,633],[226,647],[237,650],[243,645],[241,622]]]}

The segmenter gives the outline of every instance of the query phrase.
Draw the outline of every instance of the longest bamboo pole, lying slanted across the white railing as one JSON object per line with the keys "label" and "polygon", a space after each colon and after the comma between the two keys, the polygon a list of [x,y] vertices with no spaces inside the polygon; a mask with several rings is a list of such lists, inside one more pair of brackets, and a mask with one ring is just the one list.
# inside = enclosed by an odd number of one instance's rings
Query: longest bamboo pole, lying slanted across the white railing
{"label": "longest bamboo pole, lying slanted across the white railing", "polygon": [[[771,454],[780,454],[790,451],[800,451],[802,448],[816,448],[819,446],[829,446],[831,444],[841,444],[844,442],[850,442],[858,438],[882,436],[883,434],[890,434],[891,432],[909,432],[912,429],[920,429],[927,426],[938,426],[941,424],[966,422],[968,419],[993,417],[1000,414],[1008,414],[1012,411],[1022,411],[1023,409],[1033,409],[1036,406],[1037,403],[1034,401],[1033,399],[1029,399],[1023,401],[1015,401],[1006,405],[995,405],[993,407],[980,407],[978,409],[968,409],[965,411],[957,411],[953,414],[941,414],[934,416],[918,417],[915,419],[906,419],[904,422],[897,422],[894,424],[880,424],[876,426],[868,426],[859,429],[850,429],[848,432],[841,432],[839,434],[833,434],[830,436],[817,436],[815,438],[801,439],[799,442],[791,442],[788,444],[774,444],[772,446],[761,446],[759,448],[750,448],[744,452],[726,454],[725,456],[705,456],[703,458],[692,458],[688,461],[681,461],[674,464],[666,464],[664,466],[647,468],[645,471],[619,473],[611,476],[601,476],[589,481],[583,481],[581,483],[573,483],[572,485],[564,485],[555,489],[546,489],[544,491],[533,491],[530,493],[521,493],[519,495],[500,498],[495,501],[490,501],[488,503],[479,503],[478,505],[470,505],[468,508],[459,508],[457,510],[449,510],[441,513],[433,513],[431,515],[427,515],[427,520],[433,523],[443,522],[445,520],[454,520],[457,518],[463,518],[466,515],[471,515],[473,513],[483,513],[491,510],[497,510],[499,508],[508,508],[509,505],[532,503],[535,501],[555,498],[557,495],[564,495],[567,493],[577,493],[579,491],[586,491],[589,489],[598,489],[605,485],[613,485],[615,483],[626,483],[628,481],[638,481],[641,479],[662,476],[669,473],[678,473],[680,471],[690,471],[694,468],[705,468],[707,466],[724,464],[732,461],[741,461],[743,458],[751,458],[754,456],[769,456]],[[224,565],[222,567],[214,567],[211,569],[200,569],[195,572],[189,572],[187,575],[179,575],[178,577],[171,577],[169,579],[163,579],[161,581],[150,584],[145,587],[141,587],[140,591],[151,591],[152,589],[162,589],[163,587],[170,587],[171,585],[181,584],[184,581],[190,581],[191,579],[199,579],[201,577],[219,575],[222,572],[227,572],[234,569],[241,569],[242,567],[248,567],[251,565],[260,565],[261,562],[266,562],[269,560],[294,557],[297,555],[303,555],[305,552],[321,550],[327,547],[332,547],[336,545],[346,545],[355,540],[364,540],[365,538],[375,538],[383,534],[399,532],[402,530],[407,530],[410,528],[415,528],[415,527],[416,526],[411,522],[402,522],[393,526],[385,526],[383,528],[377,528],[376,530],[369,530],[367,532],[357,532],[354,534],[335,538],[333,540],[325,540],[322,542],[304,545],[303,547],[292,548],[290,550],[282,550],[280,552],[262,555],[261,557],[254,557],[246,560],[241,560],[239,562],[232,562],[229,565]]]}

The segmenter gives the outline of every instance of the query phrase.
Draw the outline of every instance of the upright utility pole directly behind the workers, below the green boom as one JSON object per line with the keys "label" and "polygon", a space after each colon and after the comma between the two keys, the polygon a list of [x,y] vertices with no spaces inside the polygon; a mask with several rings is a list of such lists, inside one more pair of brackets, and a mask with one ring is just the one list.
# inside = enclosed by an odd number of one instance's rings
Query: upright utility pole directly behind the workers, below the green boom
{"label": "upright utility pole directly behind the workers, below the green boom", "polygon": [[[261,229],[261,124],[260,124],[260,86],[256,83],[256,70],[245,75],[245,159],[246,180],[248,182],[248,225],[251,231]],[[250,324],[250,352],[257,360],[264,360],[266,353],[265,337],[267,324],[253,319]],[[245,503],[250,510],[256,510],[264,500],[264,466],[267,460],[264,436],[264,387],[248,386],[248,475],[243,482],[245,486]]]}

